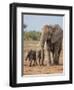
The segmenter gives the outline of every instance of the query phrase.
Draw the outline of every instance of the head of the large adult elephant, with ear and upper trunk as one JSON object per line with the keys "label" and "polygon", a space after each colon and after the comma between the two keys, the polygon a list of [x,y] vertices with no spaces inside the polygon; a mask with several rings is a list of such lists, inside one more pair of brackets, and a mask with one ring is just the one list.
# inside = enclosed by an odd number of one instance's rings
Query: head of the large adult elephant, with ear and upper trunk
{"label": "head of the large adult elephant, with ear and upper trunk", "polygon": [[42,28],[41,45],[44,47],[45,41],[51,41],[51,43],[57,42],[60,38],[63,38],[63,30],[57,25],[44,25]]}

